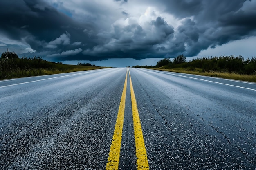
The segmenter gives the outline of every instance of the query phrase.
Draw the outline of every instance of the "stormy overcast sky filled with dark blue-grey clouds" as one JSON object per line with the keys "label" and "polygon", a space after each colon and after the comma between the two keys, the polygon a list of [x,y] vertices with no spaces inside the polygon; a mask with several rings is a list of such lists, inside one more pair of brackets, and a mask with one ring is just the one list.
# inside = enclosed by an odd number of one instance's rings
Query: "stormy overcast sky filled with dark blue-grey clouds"
{"label": "stormy overcast sky filled with dark blue-grey clouds", "polygon": [[256,0],[1,0],[0,21],[1,54],[66,64],[256,56]]}

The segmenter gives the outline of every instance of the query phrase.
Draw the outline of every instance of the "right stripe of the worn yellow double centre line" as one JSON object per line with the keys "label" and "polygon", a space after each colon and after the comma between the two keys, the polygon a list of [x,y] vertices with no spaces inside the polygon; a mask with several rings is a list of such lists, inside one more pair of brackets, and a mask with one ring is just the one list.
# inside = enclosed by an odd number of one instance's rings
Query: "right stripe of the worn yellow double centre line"
{"label": "right stripe of the worn yellow double centre line", "polygon": [[[129,70],[130,76],[130,70]],[[142,128],[139,119],[139,112],[135,99],[135,94],[132,86],[132,79],[130,76],[130,91],[132,100],[132,117],[133,117],[133,128],[135,136],[135,148],[137,157],[137,170],[149,170],[147,152],[144,144],[144,138],[142,134]]]}

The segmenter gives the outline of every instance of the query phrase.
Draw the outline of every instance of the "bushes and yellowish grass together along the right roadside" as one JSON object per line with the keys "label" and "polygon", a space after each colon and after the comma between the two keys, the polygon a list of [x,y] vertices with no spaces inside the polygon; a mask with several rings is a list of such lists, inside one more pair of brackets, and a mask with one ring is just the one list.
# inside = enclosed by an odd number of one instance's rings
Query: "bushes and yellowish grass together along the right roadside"
{"label": "bushes and yellowish grass together along the right roadside", "polygon": [[242,56],[231,55],[186,61],[184,55],[179,55],[173,60],[170,58],[160,60],[153,69],[256,82],[256,57],[245,60]]}

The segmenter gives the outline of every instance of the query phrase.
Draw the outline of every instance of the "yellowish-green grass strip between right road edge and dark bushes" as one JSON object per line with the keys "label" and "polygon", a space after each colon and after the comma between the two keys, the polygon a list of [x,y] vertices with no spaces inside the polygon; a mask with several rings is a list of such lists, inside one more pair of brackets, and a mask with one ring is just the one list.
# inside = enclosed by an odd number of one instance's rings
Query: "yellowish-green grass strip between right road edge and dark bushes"
{"label": "yellowish-green grass strip between right road edge and dark bushes", "polygon": [[218,72],[218,71],[203,71],[201,68],[153,68],[155,70],[162,71],[171,71],[176,73],[186,73],[186,74],[195,74],[195,75],[204,75],[211,77],[220,77],[225,79],[234,79],[234,80],[242,80],[248,82],[256,82],[256,73],[254,75],[247,74],[238,74],[238,73],[228,73],[228,72]]}

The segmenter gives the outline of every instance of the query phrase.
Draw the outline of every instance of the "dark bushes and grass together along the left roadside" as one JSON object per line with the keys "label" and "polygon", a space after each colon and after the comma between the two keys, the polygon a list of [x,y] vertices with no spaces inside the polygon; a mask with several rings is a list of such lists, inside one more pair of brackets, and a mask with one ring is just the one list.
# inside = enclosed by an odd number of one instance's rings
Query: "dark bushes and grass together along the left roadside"
{"label": "dark bushes and grass together along the left roadside", "polygon": [[19,58],[14,52],[2,53],[0,58],[0,79],[10,79],[18,77],[28,77],[37,75],[49,75],[57,73],[67,73],[74,71],[94,70],[106,67],[95,66],[90,63],[83,65],[67,65],[62,62],[49,62],[42,57]]}

